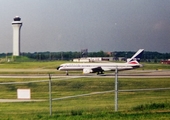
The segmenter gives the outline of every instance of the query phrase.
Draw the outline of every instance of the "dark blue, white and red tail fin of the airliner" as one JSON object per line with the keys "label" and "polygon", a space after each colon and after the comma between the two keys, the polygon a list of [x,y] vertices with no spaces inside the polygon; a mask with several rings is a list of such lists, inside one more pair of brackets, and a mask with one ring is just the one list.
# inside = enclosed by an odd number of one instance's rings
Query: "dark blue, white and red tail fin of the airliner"
{"label": "dark blue, white and red tail fin of the airliner", "polygon": [[143,54],[144,49],[139,49],[130,59],[127,60],[129,64],[139,64],[140,58]]}

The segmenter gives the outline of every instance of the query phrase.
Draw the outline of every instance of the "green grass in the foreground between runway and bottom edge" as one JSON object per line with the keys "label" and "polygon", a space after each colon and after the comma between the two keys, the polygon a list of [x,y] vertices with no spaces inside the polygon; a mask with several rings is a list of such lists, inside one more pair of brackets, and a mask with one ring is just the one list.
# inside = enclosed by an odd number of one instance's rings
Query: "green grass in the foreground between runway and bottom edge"
{"label": "green grass in the foreground between runway and bottom edge", "polygon": [[[60,78],[57,78],[60,79]],[[113,78],[52,79],[52,98],[87,94],[114,89]],[[1,82],[32,81],[41,79],[4,79]],[[170,78],[120,78],[119,89],[142,89],[169,87]],[[114,111],[114,92],[84,97],[69,98],[52,102],[52,116],[49,116],[48,82],[0,85],[1,99],[15,99],[18,88],[30,88],[32,99],[44,102],[0,103],[0,119],[13,120],[79,120],[119,119],[146,120],[169,119],[169,90],[119,92],[118,112]]]}

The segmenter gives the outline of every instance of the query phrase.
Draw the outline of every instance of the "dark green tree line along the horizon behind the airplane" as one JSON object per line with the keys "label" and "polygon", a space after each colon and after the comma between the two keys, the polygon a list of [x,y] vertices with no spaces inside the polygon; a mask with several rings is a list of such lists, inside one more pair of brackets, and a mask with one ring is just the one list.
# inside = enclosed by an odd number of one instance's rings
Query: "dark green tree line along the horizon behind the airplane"
{"label": "dark green tree line along the horizon behind the airplane", "polygon": [[[135,52],[131,51],[115,51],[106,53],[104,51],[99,52],[88,52],[86,55],[81,52],[34,52],[34,53],[21,53],[21,57],[25,56],[33,60],[38,61],[51,61],[51,60],[72,60],[74,58],[81,57],[113,57],[117,60],[120,57],[130,58],[135,54]],[[12,56],[12,53],[1,53],[0,58],[7,58]],[[144,62],[160,62],[161,60],[170,59],[170,53],[159,53],[159,52],[149,52],[145,51],[142,55],[141,61]]]}

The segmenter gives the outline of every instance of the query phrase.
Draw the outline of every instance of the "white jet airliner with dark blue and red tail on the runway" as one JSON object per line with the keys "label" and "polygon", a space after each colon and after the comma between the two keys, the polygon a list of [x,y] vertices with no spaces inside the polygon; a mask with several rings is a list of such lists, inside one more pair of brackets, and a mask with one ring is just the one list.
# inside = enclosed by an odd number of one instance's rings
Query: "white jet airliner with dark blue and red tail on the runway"
{"label": "white jet airliner with dark blue and red tail on the runway", "polygon": [[57,67],[57,70],[66,71],[76,71],[82,70],[83,74],[97,73],[104,74],[104,71],[118,71],[120,70],[131,70],[135,68],[142,67],[138,60],[140,59],[144,49],[139,49],[126,63],[65,63]]}

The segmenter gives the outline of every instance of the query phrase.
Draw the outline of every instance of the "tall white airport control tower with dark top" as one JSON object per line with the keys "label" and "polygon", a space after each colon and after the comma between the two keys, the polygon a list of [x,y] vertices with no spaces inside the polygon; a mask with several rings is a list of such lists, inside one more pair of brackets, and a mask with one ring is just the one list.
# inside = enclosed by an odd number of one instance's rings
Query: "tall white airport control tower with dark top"
{"label": "tall white airport control tower with dark top", "polygon": [[21,18],[16,16],[12,22],[13,27],[13,56],[20,55],[20,29],[22,26]]}

